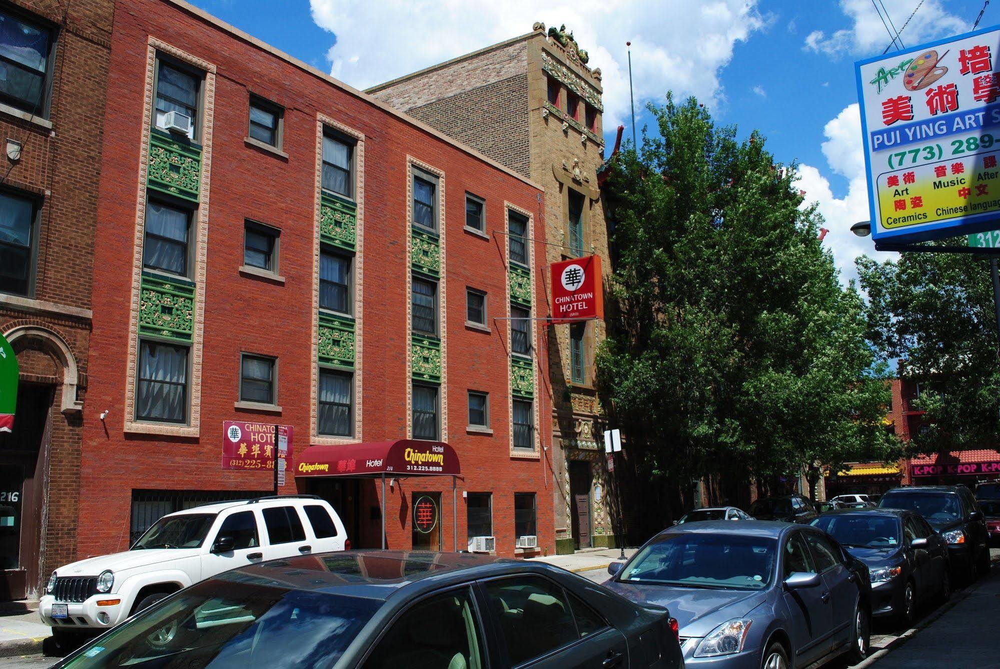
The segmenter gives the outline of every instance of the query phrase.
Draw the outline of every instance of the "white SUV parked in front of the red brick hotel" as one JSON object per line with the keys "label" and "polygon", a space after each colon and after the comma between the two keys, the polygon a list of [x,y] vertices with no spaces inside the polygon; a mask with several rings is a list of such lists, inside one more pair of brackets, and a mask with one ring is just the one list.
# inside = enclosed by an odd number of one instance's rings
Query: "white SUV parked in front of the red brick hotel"
{"label": "white SUV parked in front of the red brick hotel", "polygon": [[101,632],[172,592],[273,558],[350,548],[330,504],[312,495],[221,502],[160,518],[130,550],[52,572],[39,602],[53,634]]}

